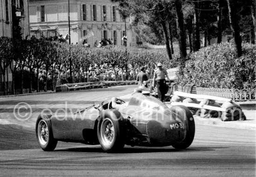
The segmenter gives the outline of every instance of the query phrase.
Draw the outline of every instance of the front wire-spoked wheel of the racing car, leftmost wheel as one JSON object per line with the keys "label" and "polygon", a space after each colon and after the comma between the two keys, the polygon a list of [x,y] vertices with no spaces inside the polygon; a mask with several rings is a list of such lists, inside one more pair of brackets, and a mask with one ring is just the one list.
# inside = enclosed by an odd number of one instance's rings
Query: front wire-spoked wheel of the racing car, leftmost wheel
{"label": "front wire-spoked wheel of the racing car, leftmost wheel", "polygon": [[38,116],[35,124],[36,139],[44,151],[53,151],[58,143],[53,136],[52,125],[49,120],[51,115]]}

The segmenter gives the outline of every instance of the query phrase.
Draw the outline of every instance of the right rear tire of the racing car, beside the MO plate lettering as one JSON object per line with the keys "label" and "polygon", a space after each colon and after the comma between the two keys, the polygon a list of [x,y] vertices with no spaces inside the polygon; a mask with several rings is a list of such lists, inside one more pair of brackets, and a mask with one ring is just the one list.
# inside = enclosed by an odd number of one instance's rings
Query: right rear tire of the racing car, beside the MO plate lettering
{"label": "right rear tire of the racing car, beside the MO plate lettering", "polygon": [[185,106],[173,106],[171,107],[171,111],[180,115],[181,117],[184,115],[186,116],[186,118],[183,119],[184,125],[187,129],[186,137],[182,142],[172,144],[175,149],[186,149],[192,144],[195,136],[195,121],[193,115],[191,114],[189,108]]}

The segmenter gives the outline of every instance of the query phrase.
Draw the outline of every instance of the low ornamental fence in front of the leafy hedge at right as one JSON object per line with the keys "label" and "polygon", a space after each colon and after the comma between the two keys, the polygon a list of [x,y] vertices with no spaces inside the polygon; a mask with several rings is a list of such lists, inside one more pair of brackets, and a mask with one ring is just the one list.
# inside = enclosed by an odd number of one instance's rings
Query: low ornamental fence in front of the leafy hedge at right
{"label": "low ornamental fence in front of the leafy hedge at right", "polygon": [[228,89],[228,88],[196,88],[196,93],[200,95],[211,95],[229,98],[236,101],[255,101],[256,88],[254,89]]}

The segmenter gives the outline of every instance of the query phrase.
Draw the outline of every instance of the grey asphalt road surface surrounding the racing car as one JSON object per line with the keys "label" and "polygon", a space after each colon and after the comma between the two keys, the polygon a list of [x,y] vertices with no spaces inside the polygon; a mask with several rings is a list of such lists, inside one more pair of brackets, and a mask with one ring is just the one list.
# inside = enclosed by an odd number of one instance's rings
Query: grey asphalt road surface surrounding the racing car
{"label": "grey asphalt road surface surrounding the racing car", "polygon": [[[17,101],[29,102],[34,111],[46,106],[61,107],[62,101],[69,101],[71,107],[76,108],[81,107],[80,101],[89,105],[92,101],[104,101],[106,97],[126,95],[132,88],[0,99],[1,104],[7,105],[6,112],[0,114],[0,176],[255,177],[255,130],[196,125],[192,145],[182,151],[171,146],[125,146],[122,153],[111,154],[103,152],[99,145],[59,142],[54,152],[44,152],[34,133],[38,113],[33,113],[26,121],[15,120],[12,116],[11,109]],[[51,101],[55,101],[54,104]],[[74,105],[74,101],[78,104]]]}

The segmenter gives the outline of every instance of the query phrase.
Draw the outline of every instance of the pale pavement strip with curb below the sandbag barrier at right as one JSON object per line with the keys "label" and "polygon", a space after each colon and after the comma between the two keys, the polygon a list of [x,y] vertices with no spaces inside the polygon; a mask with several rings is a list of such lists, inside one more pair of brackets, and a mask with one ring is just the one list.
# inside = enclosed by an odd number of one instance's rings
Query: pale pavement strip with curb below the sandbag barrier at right
{"label": "pale pavement strip with curb below the sandbag barrier at right", "polygon": [[228,128],[239,128],[247,130],[256,130],[256,124],[248,123],[245,121],[222,121],[218,118],[201,118],[194,115],[195,124],[198,125],[211,125],[211,126],[223,126]]}

